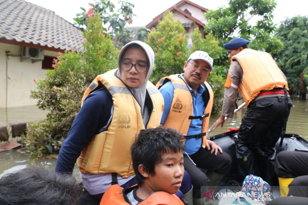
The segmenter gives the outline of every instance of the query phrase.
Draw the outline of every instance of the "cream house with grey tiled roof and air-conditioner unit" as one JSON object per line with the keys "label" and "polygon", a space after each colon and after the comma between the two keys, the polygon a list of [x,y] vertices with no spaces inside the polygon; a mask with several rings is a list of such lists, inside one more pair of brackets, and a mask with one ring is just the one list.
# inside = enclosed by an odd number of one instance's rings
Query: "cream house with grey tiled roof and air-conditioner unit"
{"label": "cream house with grey tiled roof and air-conditioner unit", "polygon": [[58,52],[83,52],[82,31],[54,11],[24,0],[0,0],[0,108],[36,104],[35,81]]}

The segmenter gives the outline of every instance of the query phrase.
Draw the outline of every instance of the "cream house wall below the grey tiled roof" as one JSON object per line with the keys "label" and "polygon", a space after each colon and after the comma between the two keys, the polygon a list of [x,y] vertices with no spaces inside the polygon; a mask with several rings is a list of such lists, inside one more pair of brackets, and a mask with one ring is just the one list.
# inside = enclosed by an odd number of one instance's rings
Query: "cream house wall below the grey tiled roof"
{"label": "cream house wall below the grey tiled roof", "polygon": [[[9,50],[12,55],[7,61],[7,106],[23,106],[36,104],[37,100],[30,98],[30,90],[35,88],[34,79],[38,81],[45,77],[46,69],[42,69],[42,61],[32,63],[30,59],[20,62],[20,46],[0,43],[0,108],[6,106],[6,55]],[[44,51],[44,55],[57,56],[57,52]]]}

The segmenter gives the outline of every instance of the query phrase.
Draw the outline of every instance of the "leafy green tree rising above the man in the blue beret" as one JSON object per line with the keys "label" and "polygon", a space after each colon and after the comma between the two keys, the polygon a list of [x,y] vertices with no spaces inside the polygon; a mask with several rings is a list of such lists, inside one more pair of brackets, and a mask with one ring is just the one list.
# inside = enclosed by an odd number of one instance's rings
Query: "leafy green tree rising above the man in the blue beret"
{"label": "leafy green tree rising above the man in the blue beret", "polygon": [[[274,0],[229,0],[229,7],[205,13],[208,21],[205,32],[212,32],[221,46],[234,36],[240,36],[250,40],[249,47],[252,49],[278,53],[283,44],[272,35],[275,30],[272,14],[275,7]],[[253,26],[249,22],[256,17],[259,20]],[[229,69],[227,51],[223,54],[218,65]]]}

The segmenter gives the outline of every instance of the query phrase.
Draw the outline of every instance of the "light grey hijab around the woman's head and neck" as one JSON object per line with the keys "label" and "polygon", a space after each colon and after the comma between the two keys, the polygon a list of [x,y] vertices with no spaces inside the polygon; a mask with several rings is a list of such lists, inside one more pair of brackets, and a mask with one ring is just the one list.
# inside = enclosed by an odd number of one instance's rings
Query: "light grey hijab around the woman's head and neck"
{"label": "light grey hijab around the woman's head and neck", "polygon": [[144,102],[145,102],[147,82],[148,82],[150,75],[151,75],[153,68],[154,68],[154,52],[153,52],[153,49],[148,44],[146,44],[142,41],[131,41],[128,44],[124,45],[123,48],[121,49],[119,57],[118,57],[118,70],[115,71],[115,76],[120,78],[121,80],[122,80],[122,78],[121,78],[120,60],[121,60],[121,57],[122,57],[122,54],[123,54],[123,51],[125,50],[125,48],[128,45],[131,45],[131,44],[140,45],[141,48],[144,49],[145,53],[148,56],[148,60],[149,60],[149,68],[148,68],[148,71],[147,71],[147,75],[144,79],[144,82],[136,88],[131,88],[127,85],[127,87],[133,93],[133,95],[135,96],[137,102],[139,103],[139,105],[141,107],[142,120],[143,120],[143,123],[144,123],[144,126],[145,126],[145,124],[147,123],[147,121],[149,119],[149,115],[148,115],[148,108],[144,105]]}

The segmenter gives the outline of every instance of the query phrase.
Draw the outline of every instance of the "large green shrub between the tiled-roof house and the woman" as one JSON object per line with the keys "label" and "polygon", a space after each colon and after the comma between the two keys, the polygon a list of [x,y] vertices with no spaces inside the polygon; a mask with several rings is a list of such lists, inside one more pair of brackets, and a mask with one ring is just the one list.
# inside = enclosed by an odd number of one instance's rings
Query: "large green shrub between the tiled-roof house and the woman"
{"label": "large green shrub between the tiled-roof house and the woman", "polygon": [[48,110],[47,118],[28,124],[26,152],[38,158],[59,152],[62,141],[79,112],[81,98],[91,81],[116,65],[118,50],[110,35],[103,33],[99,14],[92,9],[87,12],[87,29],[83,31],[85,53],[65,51],[54,59],[54,70],[48,70],[46,78],[40,79],[31,97],[37,105]]}

